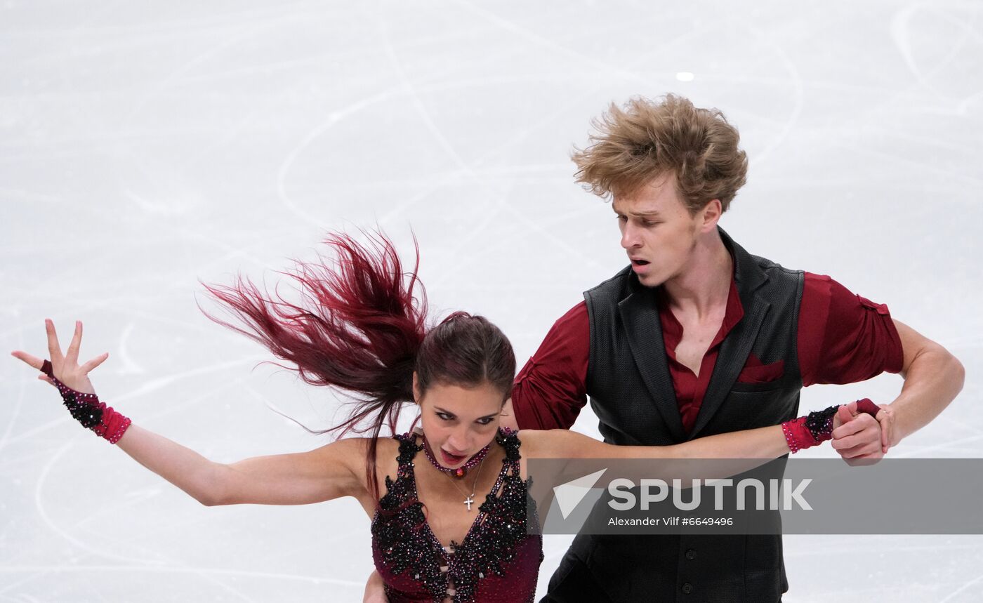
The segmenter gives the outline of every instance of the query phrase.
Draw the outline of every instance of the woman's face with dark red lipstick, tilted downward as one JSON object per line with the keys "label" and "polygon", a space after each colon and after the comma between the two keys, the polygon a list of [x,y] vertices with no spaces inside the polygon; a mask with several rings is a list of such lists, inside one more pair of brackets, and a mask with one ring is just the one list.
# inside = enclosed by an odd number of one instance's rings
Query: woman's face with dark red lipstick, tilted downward
{"label": "woman's face with dark red lipstick, tilted downward", "polygon": [[418,391],[424,434],[441,466],[462,466],[492,441],[502,395],[489,383],[470,388],[434,383],[422,396]]}

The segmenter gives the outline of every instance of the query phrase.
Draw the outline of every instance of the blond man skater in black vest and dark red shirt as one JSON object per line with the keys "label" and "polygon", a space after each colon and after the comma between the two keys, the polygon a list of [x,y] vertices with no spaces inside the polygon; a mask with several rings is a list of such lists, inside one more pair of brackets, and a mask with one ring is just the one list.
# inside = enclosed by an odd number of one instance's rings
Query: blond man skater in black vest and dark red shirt
{"label": "blond man skater in black vest and dark red shirt", "polygon": [[[886,305],[751,255],[718,226],[747,170],[719,111],[674,95],[612,105],[574,161],[610,195],[631,265],[556,321],[503,423],[569,428],[590,398],[607,442],[672,444],[788,420],[804,386],[900,372],[890,441],[868,415],[834,433],[844,459],[870,459],[962,388],[958,360]],[[787,588],[781,535],[581,534],[544,601],[763,603]]]}

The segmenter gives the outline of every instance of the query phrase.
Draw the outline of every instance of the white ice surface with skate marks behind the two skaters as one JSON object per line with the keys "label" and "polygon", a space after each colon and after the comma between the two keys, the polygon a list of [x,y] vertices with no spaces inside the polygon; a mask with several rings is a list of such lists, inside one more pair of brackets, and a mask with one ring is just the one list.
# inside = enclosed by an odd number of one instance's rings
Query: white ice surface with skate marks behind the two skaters
{"label": "white ice surface with skate marks behind the two skaters", "polygon": [[[624,264],[571,145],[611,100],[721,108],[751,157],[723,226],[888,302],[968,370],[895,457],[983,456],[983,23],[961,2],[6,2],[0,342],[42,320],[109,352],[100,395],[218,461],[324,442],[331,396],[207,321],[202,286],[277,281],[326,229],[386,229],[437,309],[524,360]],[[690,76],[691,75],[691,76]],[[0,601],[358,601],[352,501],[203,508],[0,363]],[[894,375],[813,387],[803,408]],[[583,412],[576,428],[596,433]],[[831,456],[829,449],[813,452]],[[858,510],[865,512],[866,510]],[[547,538],[541,592],[569,538]],[[789,602],[979,601],[983,536],[787,536]]]}

